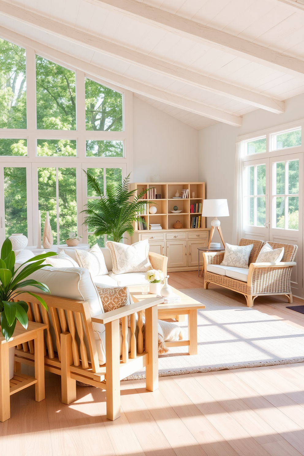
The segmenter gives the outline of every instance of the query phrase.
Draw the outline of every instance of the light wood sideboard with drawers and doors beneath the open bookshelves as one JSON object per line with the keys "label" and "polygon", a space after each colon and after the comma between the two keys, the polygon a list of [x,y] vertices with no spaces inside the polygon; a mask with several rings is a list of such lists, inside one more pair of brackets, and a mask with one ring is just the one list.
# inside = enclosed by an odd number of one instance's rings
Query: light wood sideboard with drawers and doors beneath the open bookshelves
{"label": "light wood sideboard with drawers and doors beneath the open bookshelves", "polygon": [[168,272],[192,271],[198,266],[198,247],[208,245],[207,228],[172,229],[172,230],[137,230],[130,242],[148,239],[150,251],[168,257]]}

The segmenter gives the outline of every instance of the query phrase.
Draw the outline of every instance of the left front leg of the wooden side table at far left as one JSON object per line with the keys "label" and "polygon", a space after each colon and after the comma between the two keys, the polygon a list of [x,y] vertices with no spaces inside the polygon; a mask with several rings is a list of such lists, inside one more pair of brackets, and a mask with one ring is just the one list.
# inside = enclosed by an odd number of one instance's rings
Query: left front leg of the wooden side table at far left
{"label": "left front leg of the wooden side table at far left", "polygon": [[0,421],[10,418],[9,344],[0,344]]}

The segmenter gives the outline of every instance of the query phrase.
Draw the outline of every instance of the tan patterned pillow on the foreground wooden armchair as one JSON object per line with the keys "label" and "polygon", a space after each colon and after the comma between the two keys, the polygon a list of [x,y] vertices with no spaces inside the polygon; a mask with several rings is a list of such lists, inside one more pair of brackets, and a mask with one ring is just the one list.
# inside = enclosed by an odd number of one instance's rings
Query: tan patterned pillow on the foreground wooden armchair
{"label": "tan patterned pillow on the foreground wooden armchair", "polygon": [[[109,312],[120,307],[129,306],[131,304],[129,289],[124,287],[105,287],[103,284],[95,284],[101,302],[103,303],[103,311]],[[121,318],[119,319],[121,324]],[[130,316],[128,315],[128,326],[130,327]]]}

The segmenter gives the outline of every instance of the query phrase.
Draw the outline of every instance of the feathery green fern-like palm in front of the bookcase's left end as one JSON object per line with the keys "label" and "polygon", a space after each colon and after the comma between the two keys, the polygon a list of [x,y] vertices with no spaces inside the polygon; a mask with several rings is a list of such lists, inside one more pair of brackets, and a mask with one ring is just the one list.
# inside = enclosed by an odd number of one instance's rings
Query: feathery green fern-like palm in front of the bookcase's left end
{"label": "feathery green fern-like palm in front of the bookcase's left end", "polygon": [[89,200],[84,224],[93,228],[95,236],[108,234],[114,242],[120,242],[124,233],[130,236],[134,233],[133,222],[140,220],[139,213],[145,208],[146,204],[153,204],[152,201],[143,200],[146,194],[143,190],[135,195],[135,190],[129,190],[130,174],[122,183],[108,184],[106,196],[103,195],[95,176],[87,171],[88,186],[100,197],[100,199]]}

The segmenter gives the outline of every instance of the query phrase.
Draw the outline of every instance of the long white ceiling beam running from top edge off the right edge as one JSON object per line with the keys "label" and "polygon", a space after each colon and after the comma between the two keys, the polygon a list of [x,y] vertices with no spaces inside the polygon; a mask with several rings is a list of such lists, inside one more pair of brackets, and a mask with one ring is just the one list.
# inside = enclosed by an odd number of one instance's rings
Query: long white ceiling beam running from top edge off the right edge
{"label": "long white ceiling beam running from top edge off the right edge", "polygon": [[252,62],[275,68],[278,71],[292,74],[296,77],[304,77],[304,61],[295,57],[282,54],[268,47],[260,46],[238,36],[230,35],[221,30],[204,26],[184,17],[177,16],[159,8],[146,5],[136,0],[86,0],[94,5],[118,10],[126,15],[138,17],[140,21],[146,21],[162,29],[172,31],[180,36],[198,42],[208,43],[224,52],[246,58]]}

